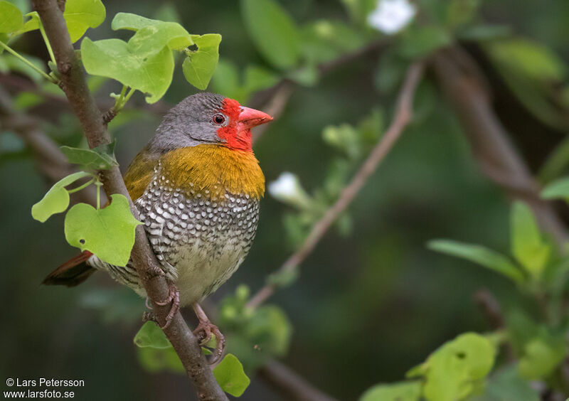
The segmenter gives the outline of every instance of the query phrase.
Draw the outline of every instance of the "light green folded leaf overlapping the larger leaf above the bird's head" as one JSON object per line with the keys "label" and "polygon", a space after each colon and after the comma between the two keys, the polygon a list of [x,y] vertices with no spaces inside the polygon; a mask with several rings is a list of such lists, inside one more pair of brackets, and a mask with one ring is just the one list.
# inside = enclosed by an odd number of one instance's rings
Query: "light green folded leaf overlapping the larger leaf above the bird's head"
{"label": "light green folded leaf overlapping the larger leaf above the bird's head", "polygon": [[[159,53],[164,46],[170,50],[184,50],[192,46],[191,35],[176,22],[164,22],[144,18],[136,14],[118,13],[112,19],[112,29],[136,31],[129,40],[129,51],[139,57],[149,57]],[[197,35],[196,35],[197,36]]]}

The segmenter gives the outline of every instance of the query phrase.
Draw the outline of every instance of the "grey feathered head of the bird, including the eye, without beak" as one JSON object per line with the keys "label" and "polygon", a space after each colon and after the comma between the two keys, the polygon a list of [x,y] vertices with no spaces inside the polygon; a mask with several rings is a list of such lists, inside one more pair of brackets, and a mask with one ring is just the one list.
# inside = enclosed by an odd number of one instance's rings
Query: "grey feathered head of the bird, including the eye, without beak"
{"label": "grey feathered head of the bird, including the eye, without beak", "polygon": [[230,124],[235,116],[229,114],[234,114],[235,107],[240,107],[238,102],[215,93],[188,96],[166,113],[147,149],[163,154],[199,144],[222,144],[225,140],[218,136],[218,129]]}

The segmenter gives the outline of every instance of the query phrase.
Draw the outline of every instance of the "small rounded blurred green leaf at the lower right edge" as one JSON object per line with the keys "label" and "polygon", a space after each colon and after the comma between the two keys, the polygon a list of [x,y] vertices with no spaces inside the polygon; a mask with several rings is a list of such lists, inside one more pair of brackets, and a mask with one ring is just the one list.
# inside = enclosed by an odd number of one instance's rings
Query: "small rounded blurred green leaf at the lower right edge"
{"label": "small rounded blurred green leaf at the lower right edge", "polygon": [[567,345],[564,339],[542,333],[526,343],[518,371],[527,380],[546,378],[565,359]]}

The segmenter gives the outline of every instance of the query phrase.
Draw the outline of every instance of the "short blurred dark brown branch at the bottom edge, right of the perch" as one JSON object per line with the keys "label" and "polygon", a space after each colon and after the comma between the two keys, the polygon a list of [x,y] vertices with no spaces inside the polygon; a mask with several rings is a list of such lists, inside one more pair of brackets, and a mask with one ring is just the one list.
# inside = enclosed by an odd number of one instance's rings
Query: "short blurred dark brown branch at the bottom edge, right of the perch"
{"label": "short blurred dark brown branch at the bottom edge, right of the perch", "polygon": [[277,360],[270,360],[259,370],[259,377],[290,401],[334,401],[334,398],[307,383]]}

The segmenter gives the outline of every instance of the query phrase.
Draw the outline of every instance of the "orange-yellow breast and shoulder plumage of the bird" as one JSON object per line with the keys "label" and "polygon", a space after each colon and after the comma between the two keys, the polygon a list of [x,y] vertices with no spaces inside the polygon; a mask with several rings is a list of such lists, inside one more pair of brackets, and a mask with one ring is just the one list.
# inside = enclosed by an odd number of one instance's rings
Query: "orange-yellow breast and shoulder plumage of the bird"
{"label": "orange-yellow breast and shoulder plumage of the bird", "polygon": [[140,152],[130,164],[124,181],[133,200],[144,193],[156,169],[186,196],[201,193],[223,199],[225,191],[259,199],[265,193],[265,176],[251,151],[201,144],[175,149],[161,156]]}

